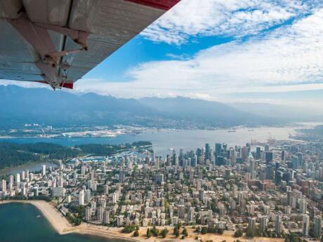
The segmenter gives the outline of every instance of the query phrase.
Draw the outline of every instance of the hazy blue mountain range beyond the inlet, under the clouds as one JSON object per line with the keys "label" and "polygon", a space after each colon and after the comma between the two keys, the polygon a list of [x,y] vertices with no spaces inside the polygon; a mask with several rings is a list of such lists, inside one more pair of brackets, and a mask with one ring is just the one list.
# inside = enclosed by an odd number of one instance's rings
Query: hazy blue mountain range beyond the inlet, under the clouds
{"label": "hazy blue mountain range beyond the inlet, under the clouds", "polygon": [[[253,109],[255,110],[255,109]],[[249,108],[190,98],[126,99],[95,93],[0,86],[0,126],[25,123],[52,126],[117,124],[157,128],[213,128],[275,125],[293,121]]]}

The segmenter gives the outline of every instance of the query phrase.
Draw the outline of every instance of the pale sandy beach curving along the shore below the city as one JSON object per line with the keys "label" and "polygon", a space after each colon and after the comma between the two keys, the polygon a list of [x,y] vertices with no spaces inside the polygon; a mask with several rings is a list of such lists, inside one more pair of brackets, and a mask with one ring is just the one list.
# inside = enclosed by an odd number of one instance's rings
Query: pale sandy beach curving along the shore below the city
{"label": "pale sandy beach curving along the shore below the city", "polygon": [[[0,202],[1,204],[5,203],[30,203],[36,208],[38,208],[41,213],[43,213],[44,217],[50,222],[53,226],[55,231],[58,234],[70,234],[70,233],[77,233],[77,234],[86,234],[86,235],[93,235],[93,236],[100,236],[104,238],[119,238],[124,239],[126,241],[147,241],[147,242],[154,242],[154,241],[165,241],[165,242],[180,242],[180,241],[197,241],[195,238],[201,238],[202,241],[212,240],[213,242],[234,242],[237,241],[237,238],[232,236],[232,232],[225,231],[223,235],[218,234],[196,234],[192,229],[192,227],[186,227],[189,236],[187,236],[184,240],[180,237],[176,238],[173,236],[173,227],[167,227],[169,229],[169,234],[167,234],[166,238],[161,237],[146,237],[147,227],[140,227],[139,229],[139,236],[133,237],[132,234],[123,234],[121,233],[122,228],[117,227],[105,227],[100,225],[88,224],[86,222],[82,222],[79,226],[72,226],[70,222],[66,220],[66,218],[56,210],[51,203],[47,203],[46,201],[3,201]],[[158,227],[157,227],[158,228]],[[161,227],[160,229],[163,229]],[[282,238],[264,238],[264,237],[257,237],[257,238],[245,238],[240,237],[240,241],[242,242],[283,242]]]}

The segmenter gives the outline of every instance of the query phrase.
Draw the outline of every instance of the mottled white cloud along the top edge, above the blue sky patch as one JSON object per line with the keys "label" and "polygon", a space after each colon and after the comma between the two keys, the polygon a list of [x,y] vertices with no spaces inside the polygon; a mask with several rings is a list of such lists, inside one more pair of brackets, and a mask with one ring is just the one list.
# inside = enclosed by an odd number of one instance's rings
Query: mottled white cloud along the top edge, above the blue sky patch
{"label": "mottled white cloud along the top edge, above the blue sky patch", "polygon": [[311,13],[322,1],[182,0],[143,31],[153,41],[180,44],[190,36],[258,34],[291,18]]}

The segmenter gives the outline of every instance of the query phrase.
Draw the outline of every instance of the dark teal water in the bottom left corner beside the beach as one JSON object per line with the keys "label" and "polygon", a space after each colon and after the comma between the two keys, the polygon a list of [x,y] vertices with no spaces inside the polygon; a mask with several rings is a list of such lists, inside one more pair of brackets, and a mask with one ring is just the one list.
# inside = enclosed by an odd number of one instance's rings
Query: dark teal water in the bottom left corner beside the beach
{"label": "dark teal water in the bottom left corner beside the beach", "polygon": [[[37,217],[41,215],[41,217]],[[1,242],[125,242],[79,234],[60,235],[46,217],[31,204],[6,203],[0,205]]]}

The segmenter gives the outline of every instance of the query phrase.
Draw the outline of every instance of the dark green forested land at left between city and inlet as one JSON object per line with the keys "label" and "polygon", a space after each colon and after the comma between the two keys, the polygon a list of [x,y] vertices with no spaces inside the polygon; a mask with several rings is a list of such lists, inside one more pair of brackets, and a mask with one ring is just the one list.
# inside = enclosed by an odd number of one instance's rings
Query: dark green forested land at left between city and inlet
{"label": "dark green forested land at left between city and inlet", "polygon": [[30,162],[66,160],[84,154],[111,156],[121,149],[132,149],[151,144],[151,142],[140,141],[133,144],[82,144],[76,147],[65,147],[45,142],[34,144],[0,142],[0,170]]}

